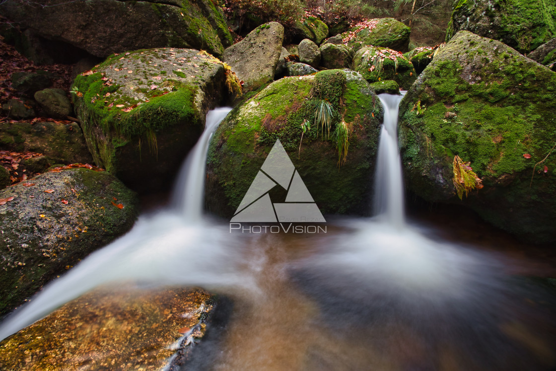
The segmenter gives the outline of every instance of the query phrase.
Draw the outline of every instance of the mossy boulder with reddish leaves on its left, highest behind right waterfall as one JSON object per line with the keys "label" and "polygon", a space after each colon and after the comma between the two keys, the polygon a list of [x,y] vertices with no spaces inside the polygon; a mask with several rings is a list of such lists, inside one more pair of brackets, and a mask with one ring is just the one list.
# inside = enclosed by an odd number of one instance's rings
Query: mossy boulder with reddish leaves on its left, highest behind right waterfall
{"label": "mossy boulder with reddish leaves on its left, highest behind right waterfall", "polygon": [[405,53],[409,50],[410,33],[408,26],[394,18],[375,18],[342,33],[342,38],[354,51],[364,46],[375,46]]}

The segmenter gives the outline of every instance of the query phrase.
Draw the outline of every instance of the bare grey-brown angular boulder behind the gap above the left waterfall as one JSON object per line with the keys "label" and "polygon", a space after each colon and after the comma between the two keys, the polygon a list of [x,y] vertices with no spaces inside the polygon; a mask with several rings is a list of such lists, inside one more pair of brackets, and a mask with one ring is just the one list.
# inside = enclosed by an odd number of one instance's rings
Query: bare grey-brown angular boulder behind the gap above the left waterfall
{"label": "bare grey-brown angular boulder behind the gap above the left waterfall", "polygon": [[277,22],[265,23],[227,48],[222,60],[244,81],[245,91],[257,90],[274,81],[283,41],[284,26]]}

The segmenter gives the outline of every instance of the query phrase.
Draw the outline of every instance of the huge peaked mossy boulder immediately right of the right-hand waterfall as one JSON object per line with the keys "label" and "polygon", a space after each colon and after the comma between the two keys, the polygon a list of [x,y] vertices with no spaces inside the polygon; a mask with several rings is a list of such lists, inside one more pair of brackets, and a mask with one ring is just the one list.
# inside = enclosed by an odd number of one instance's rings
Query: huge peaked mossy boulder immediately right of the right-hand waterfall
{"label": "huge peaked mossy boulder immediately right of the right-hand waterfall", "polygon": [[[556,73],[501,42],[460,31],[401,101],[406,185],[428,201],[468,205],[529,241],[554,241],[554,112]],[[453,184],[455,155],[484,186],[462,201]]]}

